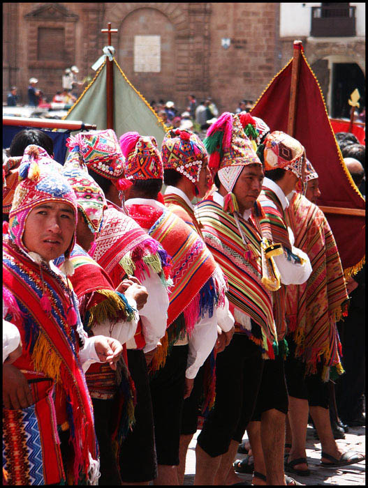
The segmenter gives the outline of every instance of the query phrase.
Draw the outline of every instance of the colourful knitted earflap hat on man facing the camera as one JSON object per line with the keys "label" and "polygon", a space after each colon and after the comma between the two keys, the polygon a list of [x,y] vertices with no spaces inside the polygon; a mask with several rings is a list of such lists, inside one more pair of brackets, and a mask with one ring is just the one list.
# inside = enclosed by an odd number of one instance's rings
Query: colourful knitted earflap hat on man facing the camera
{"label": "colourful knitted earflap hat on man facing the camera", "polygon": [[[9,234],[13,241],[25,252],[29,252],[22,242],[24,227],[31,210],[45,201],[65,202],[74,211],[75,227],[77,225],[77,200],[73,188],[64,176],[61,176],[59,163],[47,158],[39,146],[30,145],[24,151],[19,167],[20,183],[15,189],[13,204],[9,213]],[[46,153],[47,154],[47,153]],[[49,160],[49,164],[47,164]],[[62,167],[61,167],[62,168]],[[75,232],[71,244],[64,256],[64,272],[73,274],[73,265],[68,257],[75,244]]]}

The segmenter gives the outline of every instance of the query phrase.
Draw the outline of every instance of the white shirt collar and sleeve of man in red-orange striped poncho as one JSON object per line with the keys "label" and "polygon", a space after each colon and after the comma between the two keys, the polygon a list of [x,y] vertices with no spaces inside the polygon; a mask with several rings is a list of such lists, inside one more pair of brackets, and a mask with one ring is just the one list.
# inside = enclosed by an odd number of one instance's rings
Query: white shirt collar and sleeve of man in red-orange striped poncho
{"label": "white shirt collar and sleeve of man in red-orange striped poncho", "polygon": [[[149,205],[154,208],[165,208],[159,201],[153,199],[133,198],[126,201],[126,205]],[[145,229],[147,231],[148,229]],[[230,312],[229,312],[230,313]],[[223,321],[226,327],[225,320]],[[229,329],[230,330],[230,329]],[[189,344],[189,354],[186,363],[186,378],[193,379],[198,373],[198,369],[205,363],[205,360],[212,351],[217,339],[217,314],[214,311],[212,317],[208,314],[200,319],[191,332],[191,337],[175,342],[175,346]]]}

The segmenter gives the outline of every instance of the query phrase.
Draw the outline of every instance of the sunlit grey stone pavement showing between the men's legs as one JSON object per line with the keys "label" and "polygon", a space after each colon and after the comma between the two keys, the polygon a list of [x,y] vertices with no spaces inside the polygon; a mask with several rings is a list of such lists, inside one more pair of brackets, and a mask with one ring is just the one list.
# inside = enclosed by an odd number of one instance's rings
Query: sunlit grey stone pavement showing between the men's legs
{"label": "sunlit grey stone pavement showing between the men's legs", "polygon": [[[193,485],[194,473],[196,472],[196,439],[199,430],[193,437],[186,455],[186,468],[184,485]],[[355,450],[365,452],[365,427],[350,427],[346,439],[337,439],[337,443],[344,450]],[[247,439],[244,436],[244,439]],[[237,454],[236,459],[243,459],[244,455]],[[307,431],[307,459],[311,475],[308,477],[293,475],[293,478],[305,485],[365,485],[365,461],[351,466],[344,466],[339,469],[322,468],[318,466],[321,459],[321,444],[314,439],[314,429],[308,427]],[[240,475],[242,480],[251,484],[251,475]]]}

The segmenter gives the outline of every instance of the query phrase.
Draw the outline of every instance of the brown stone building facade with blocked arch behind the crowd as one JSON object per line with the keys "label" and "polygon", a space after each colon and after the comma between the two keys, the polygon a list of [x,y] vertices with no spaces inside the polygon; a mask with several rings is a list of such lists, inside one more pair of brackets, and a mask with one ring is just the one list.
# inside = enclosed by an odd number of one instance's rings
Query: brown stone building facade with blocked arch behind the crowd
{"label": "brown stone building facade with blocked arch behind the crowd", "polygon": [[[51,100],[65,68],[93,77],[108,44],[119,66],[150,102],[186,108],[212,96],[219,110],[256,100],[274,73],[279,3],[3,3],[3,100],[16,85],[27,103],[29,77]],[[230,45],[228,45],[230,40]],[[145,43],[146,47],[145,48]]]}

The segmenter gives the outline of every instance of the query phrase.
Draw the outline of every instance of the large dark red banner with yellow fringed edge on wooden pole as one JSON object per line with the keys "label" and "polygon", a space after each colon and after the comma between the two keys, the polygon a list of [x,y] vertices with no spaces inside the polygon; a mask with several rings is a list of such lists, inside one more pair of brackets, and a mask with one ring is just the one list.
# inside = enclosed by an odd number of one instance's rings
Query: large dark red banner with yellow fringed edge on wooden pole
{"label": "large dark red banner with yellow fringed edge on wooden pole", "polygon": [[[260,96],[251,114],[259,116],[271,130],[287,132],[292,59]],[[297,85],[295,139],[306,149],[319,176],[318,205],[365,209],[365,199],[353,182],[334,137],[323,95],[304,53],[300,56]],[[365,259],[365,217],[327,213],[346,275],[355,273]]]}

